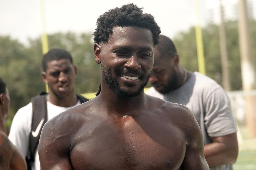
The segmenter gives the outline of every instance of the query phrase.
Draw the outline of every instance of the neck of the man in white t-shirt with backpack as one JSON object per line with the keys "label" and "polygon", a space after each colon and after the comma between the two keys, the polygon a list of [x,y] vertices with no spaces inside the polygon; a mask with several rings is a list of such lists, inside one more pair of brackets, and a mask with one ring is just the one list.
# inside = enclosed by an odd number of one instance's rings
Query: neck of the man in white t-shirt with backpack
{"label": "neck of the man in white t-shirt with backpack", "polygon": [[47,101],[50,103],[61,106],[61,107],[71,107],[77,104],[77,96],[75,95],[74,90],[67,96],[58,97],[50,89],[49,94],[46,97]]}

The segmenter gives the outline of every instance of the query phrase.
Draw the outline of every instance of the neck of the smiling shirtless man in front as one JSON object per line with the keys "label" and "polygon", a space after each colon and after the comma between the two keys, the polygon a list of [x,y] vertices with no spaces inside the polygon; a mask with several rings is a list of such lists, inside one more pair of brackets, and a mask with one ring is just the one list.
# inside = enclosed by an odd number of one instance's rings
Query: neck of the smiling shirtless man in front
{"label": "neck of the smiling shirtless man in front", "polygon": [[116,116],[134,116],[146,107],[144,90],[135,97],[118,96],[106,84],[101,85],[97,100],[107,114]]}

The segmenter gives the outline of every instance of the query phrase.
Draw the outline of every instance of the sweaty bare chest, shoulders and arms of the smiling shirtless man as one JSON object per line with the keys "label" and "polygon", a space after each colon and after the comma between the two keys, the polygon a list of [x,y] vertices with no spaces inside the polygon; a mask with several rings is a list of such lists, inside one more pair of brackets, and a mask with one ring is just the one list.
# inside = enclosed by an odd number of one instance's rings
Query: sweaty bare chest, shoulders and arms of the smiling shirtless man
{"label": "sweaty bare chest, shoulders and arms of the smiling shirtless man", "polygon": [[42,170],[208,169],[199,126],[185,106],[146,95],[145,107],[116,116],[97,100],[46,123]]}

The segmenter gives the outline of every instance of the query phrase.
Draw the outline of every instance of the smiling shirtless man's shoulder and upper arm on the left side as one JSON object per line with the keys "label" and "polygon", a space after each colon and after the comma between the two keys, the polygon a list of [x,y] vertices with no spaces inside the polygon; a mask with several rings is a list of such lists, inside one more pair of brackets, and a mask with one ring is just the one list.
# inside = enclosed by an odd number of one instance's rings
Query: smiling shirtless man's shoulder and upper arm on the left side
{"label": "smiling shirtless man's shoulder and upper arm on the left side", "polygon": [[43,126],[38,145],[41,169],[73,169],[70,152],[79,134],[86,134],[93,124],[91,103],[86,102],[62,112]]}

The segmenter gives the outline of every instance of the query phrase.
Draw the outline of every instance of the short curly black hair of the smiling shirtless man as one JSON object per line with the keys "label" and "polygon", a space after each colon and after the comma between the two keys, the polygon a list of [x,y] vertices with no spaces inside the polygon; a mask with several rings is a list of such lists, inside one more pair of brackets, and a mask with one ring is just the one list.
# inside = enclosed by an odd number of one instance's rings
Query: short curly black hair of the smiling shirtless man
{"label": "short curly black hair of the smiling shirtless man", "polygon": [[142,8],[130,3],[105,12],[97,19],[97,28],[93,33],[94,43],[107,43],[114,27],[137,26],[149,29],[153,34],[154,45],[157,45],[160,27],[150,14],[143,14]]}

